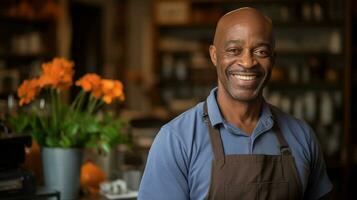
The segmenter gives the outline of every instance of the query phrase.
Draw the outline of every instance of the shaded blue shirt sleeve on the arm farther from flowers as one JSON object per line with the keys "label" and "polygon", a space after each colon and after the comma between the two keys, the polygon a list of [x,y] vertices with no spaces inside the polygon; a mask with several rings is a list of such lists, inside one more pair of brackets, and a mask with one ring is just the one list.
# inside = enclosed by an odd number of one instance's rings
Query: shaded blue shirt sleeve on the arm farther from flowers
{"label": "shaded blue shirt sleeve on the arm farther from flowers", "polygon": [[332,190],[332,183],[326,172],[326,164],[316,135],[310,128],[310,176],[305,191],[305,199],[319,199]]}

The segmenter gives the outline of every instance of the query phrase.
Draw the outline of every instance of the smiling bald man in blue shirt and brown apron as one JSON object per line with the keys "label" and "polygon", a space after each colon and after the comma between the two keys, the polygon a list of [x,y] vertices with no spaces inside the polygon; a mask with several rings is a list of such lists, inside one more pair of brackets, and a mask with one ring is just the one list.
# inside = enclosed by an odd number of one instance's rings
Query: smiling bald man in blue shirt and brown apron
{"label": "smiling bald man in blue shirt and brown apron", "polygon": [[271,20],[241,8],[209,49],[218,87],[163,126],[139,199],[325,199],[332,190],[312,129],[265,102],[274,65]]}

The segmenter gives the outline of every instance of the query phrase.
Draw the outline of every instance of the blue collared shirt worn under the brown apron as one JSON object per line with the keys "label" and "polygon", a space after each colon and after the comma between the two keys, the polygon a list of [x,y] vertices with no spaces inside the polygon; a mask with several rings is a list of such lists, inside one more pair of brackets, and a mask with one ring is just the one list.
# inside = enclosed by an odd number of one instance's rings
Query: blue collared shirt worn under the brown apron
{"label": "blue collared shirt worn under the brown apron", "polygon": [[[267,103],[251,135],[229,124],[216,101],[217,88],[207,98],[211,124],[219,127],[224,152],[229,154],[279,155],[279,142],[272,131],[274,109],[277,123],[293,156],[304,191],[304,199],[318,199],[332,189],[321,148],[312,129],[303,121]],[[141,180],[143,200],[206,198],[211,180],[213,152],[203,102],[164,125],[150,149]]]}

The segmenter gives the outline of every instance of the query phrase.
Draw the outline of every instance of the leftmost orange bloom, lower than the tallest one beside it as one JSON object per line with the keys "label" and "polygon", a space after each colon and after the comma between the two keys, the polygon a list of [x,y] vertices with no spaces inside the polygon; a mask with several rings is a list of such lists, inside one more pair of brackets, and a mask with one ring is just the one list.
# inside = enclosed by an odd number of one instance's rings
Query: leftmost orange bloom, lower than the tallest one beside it
{"label": "leftmost orange bloom, lower than the tallest one beside it", "polygon": [[17,90],[20,97],[20,106],[30,103],[40,92],[38,79],[25,80]]}

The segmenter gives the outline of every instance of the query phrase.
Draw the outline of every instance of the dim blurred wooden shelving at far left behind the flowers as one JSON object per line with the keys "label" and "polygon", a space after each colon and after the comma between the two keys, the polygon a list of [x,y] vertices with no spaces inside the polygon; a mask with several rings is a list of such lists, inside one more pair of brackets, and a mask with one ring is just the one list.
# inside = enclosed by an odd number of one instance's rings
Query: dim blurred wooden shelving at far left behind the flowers
{"label": "dim blurred wooden shelving at far left behind the flowers", "polygon": [[9,95],[16,95],[22,80],[36,74],[40,63],[56,55],[55,10],[44,10],[46,3],[4,1],[0,5],[2,105]]}

